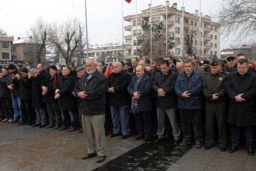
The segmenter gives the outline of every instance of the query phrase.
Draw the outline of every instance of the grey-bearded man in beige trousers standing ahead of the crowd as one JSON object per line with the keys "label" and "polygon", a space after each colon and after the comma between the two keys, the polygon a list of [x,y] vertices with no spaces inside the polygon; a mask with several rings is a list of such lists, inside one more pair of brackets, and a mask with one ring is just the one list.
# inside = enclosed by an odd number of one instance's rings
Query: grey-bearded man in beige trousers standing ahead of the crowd
{"label": "grey-bearded man in beige trousers standing ahead of the crowd", "polygon": [[[86,61],[87,73],[77,82],[74,89],[80,98],[82,122],[88,152],[82,159],[98,155],[100,163],[106,159],[106,137],[104,129],[106,77],[97,70],[97,62]],[[95,143],[96,141],[96,143]]]}

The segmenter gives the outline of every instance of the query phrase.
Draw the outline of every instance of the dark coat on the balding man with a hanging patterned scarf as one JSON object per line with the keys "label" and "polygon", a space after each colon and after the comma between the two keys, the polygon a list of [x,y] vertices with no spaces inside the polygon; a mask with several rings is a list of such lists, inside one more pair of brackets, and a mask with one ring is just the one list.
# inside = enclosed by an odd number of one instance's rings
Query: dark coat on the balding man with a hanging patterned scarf
{"label": "dark coat on the balding man with a hanging patterned scarf", "polygon": [[[133,93],[135,92],[134,89],[135,89],[136,79],[137,79],[137,76],[132,77],[132,80],[127,87],[127,91],[131,96],[133,96]],[[140,94],[140,98],[138,99],[138,112],[145,112],[145,111],[151,110],[152,108],[151,95],[150,95],[151,88],[152,88],[152,81],[150,77],[144,74],[136,90]]]}

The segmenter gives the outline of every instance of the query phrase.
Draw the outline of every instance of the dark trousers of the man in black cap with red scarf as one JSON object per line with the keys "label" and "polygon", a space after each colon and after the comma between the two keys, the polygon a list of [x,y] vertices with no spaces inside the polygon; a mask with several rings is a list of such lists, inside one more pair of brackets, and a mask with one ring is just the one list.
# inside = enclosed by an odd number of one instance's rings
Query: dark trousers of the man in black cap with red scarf
{"label": "dark trousers of the man in black cap with red scarf", "polygon": [[49,116],[50,125],[60,126],[61,125],[61,113],[58,108],[58,103],[46,102],[46,107]]}

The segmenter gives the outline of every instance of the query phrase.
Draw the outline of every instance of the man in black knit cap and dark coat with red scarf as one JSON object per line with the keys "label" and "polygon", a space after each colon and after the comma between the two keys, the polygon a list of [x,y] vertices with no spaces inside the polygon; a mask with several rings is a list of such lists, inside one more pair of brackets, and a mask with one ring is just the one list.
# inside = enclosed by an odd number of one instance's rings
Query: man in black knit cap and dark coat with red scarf
{"label": "man in black knit cap and dark coat with red scarf", "polygon": [[54,85],[58,81],[57,67],[50,66],[50,75],[47,75],[42,83],[43,101],[46,102],[47,112],[49,115],[50,124],[46,128],[54,128],[57,130],[61,126],[61,114],[58,108],[58,100],[54,98]]}

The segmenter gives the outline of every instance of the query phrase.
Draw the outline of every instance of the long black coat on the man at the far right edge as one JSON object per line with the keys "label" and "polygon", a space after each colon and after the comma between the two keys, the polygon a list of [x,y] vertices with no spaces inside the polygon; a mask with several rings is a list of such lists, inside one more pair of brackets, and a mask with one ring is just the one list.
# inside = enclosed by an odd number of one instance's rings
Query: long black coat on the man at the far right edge
{"label": "long black coat on the man at the far right edge", "polygon": [[[228,123],[234,126],[256,125],[256,74],[250,70],[243,77],[237,71],[230,73],[226,91],[230,97]],[[236,102],[235,96],[242,93],[245,101]]]}

